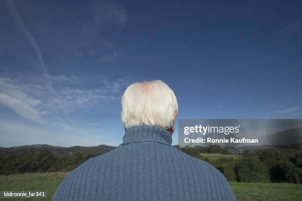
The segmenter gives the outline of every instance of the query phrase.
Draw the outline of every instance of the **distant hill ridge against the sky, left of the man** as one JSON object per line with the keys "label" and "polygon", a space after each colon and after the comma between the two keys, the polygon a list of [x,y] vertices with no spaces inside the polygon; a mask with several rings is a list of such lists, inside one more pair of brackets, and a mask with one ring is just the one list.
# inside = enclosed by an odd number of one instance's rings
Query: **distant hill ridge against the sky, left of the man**
{"label": "distant hill ridge against the sky, left of the man", "polygon": [[107,145],[99,145],[94,147],[81,147],[81,146],[74,146],[74,147],[58,147],[58,146],[51,146],[51,145],[24,145],[19,147],[10,147],[10,148],[3,148],[0,147],[0,156],[3,155],[18,155],[26,153],[29,150],[39,151],[39,150],[48,150],[50,151],[54,157],[65,157],[72,153],[80,153],[80,154],[93,154],[93,155],[101,155],[106,152],[109,152],[116,147],[107,146]]}

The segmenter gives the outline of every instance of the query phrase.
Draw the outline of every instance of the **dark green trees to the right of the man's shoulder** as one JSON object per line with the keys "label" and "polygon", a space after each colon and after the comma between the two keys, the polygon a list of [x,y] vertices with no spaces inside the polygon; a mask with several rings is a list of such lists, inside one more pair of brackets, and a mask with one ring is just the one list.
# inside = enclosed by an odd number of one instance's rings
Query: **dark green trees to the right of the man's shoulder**
{"label": "dark green trees to the right of the man's shoulder", "polygon": [[209,148],[176,148],[192,157],[206,161],[220,170],[228,181],[237,182],[287,182],[302,184],[302,150],[265,149],[256,153],[244,151],[241,157],[221,157],[210,160],[200,153],[223,154],[219,145]]}

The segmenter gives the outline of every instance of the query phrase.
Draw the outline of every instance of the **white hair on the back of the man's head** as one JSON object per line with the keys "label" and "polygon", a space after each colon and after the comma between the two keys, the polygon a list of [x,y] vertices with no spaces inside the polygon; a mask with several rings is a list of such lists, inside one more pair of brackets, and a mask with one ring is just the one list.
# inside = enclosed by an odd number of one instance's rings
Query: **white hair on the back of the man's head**
{"label": "white hair on the back of the man's head", "polygon": [[161,80],[136,82],[128,86],[121,100],[121,121],[126,129],[146,124],[170,129],[177,99],[172,89]]}

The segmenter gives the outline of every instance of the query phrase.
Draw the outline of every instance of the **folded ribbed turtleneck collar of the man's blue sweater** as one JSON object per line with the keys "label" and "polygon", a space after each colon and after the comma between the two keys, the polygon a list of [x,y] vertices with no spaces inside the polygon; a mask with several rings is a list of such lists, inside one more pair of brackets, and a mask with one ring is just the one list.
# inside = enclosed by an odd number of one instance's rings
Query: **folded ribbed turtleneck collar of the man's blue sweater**
{"label": "folded ribbed turtleneck collar of the man's blue sweater", "polygon": [[133,142],[159,142],[171,145],[172,136],[163,128],[143,124],[130,127],[125,132],[122,145]]}

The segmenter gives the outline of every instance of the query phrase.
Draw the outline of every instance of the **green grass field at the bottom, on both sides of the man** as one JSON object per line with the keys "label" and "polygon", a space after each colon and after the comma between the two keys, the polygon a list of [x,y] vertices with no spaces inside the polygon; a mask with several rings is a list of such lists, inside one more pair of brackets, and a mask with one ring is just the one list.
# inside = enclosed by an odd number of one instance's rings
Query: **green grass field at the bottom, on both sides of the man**
{"label": "green grass field at the bottom, on both sides of the man", "polygon": [[[49,201],[66,175],[64,172],[0,175],[0,191],[47,191],[47,198],[31,200]],[[302,185],[230,182],[230,186],[238,201],[302,201]],[[24,199],[1,199],[1,201],[21,200]]]}

